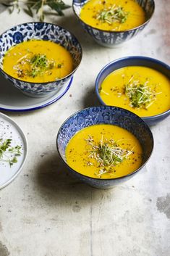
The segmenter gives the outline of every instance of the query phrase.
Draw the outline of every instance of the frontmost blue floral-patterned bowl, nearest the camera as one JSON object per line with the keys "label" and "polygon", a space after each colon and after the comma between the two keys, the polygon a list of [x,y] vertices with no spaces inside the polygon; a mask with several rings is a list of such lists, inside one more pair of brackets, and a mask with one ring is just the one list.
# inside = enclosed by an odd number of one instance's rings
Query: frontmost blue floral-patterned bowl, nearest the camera
{"label": "frontmost blue floral-patterned bowl, nearest the camera", "polygon": [[[67,165],[65,157],[65,150],[69,140],[72,139],[72,136],[74,136],[75,133],[83,128],[97,124],[117,125],[134,134],[143,146],[142,166],[127,176],[112,179],[90,178],[70,168],[69,165]],[[81,181],[88,183],[95,188],[110,189],[111,187],[132,178],[132,176],[134,176],[135,173],[142,169],[146,162],[148,162],[153,151],[153,135],[148,125],[140,117],[128,110],[110,106],[89,107],[85,110],[76,112],[61,125],[56,138],[56,146],[61,160],[64,161],[67,168],[69,168],[71,173],[77,176],[77,178],[80,178]]]}

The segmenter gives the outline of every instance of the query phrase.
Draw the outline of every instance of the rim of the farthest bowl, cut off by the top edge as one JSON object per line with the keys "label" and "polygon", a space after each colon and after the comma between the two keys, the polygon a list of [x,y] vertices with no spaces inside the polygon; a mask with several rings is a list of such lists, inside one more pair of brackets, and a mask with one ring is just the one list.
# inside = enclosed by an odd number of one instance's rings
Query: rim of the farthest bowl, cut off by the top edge
{"label": "rim of the farthest bowl, cut off by the top edge", "polygon": [[[88,1],[90,1],[90,0],[88,0]],[[86,1],[85,4],[86,4],[88,1]],[[119,31],[103,30],[103,29],[101,29],[101,28],[95,28],[95,27],[93,27],[92,25],[88,25],[88,23],[86,23],[86,22],[84,22],[82,19],[80,19],[80,16],[77,15],[77,13],[75,12],[75,6],[76,6],[75,0],[72,1],[72,9],[73,9],[73,12],[75,13],[76,17],[78,18],[78,20],[80,20],[82,23],[84,23],[85,25],[87,25],[87,26],[90,27],[90,28],[93,28],[93,29],[95,29],[95,30],[98,30],[98,31],[100,31],[100,32],[105,32],[105,33],[126,33],[126,32],[130,32],[130,31],[132,31],[132,30],[137,30],[138,28],[142,28],[143,26],[145,26],[145,25],[148,24],[148,22],[150,21],[150,19],[153,17],[153,14],[154,14],[155,9],[156,9],[155,1],[154,1],[154,0],[151,0],[151,1],[153,1],[153,12],[152,12],[152,14],[150,15],[150,18],[149,18],[148,20],[146,20],[145,22],[143,22],[143,24],[141,24],[141,25],[139,25],[139,26],[137,26],[137,27],[135,27],[135,28],[130,28],[130,29],[128,29],[128,30],[119,30]],[[82,9],[82,7],[81,7],[81,9]]]}

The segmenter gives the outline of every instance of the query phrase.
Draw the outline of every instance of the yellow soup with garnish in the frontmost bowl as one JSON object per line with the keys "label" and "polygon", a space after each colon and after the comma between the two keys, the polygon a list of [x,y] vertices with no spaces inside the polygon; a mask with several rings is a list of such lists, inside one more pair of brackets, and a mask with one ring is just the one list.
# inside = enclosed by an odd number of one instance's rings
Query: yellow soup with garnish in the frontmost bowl
{"label": "yellow soup with garnish in the frontmost bowl", "polygon": [[142,165],[143,149],[132,133],[116,125],[92,125],[70,139],[68,165],[85,176],[117,178]]}

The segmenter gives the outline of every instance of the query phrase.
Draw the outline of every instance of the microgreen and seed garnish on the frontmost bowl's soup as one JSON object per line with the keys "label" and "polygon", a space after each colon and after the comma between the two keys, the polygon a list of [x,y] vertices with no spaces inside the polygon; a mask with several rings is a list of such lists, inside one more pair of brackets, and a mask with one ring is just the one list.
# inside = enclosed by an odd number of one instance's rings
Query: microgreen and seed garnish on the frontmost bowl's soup
{"label": "microgreen and seed garnish on the frontmost bowl's soup", "polygon": [[[101,176],[103,173],[113,173],[111,168],[115,165],[119,165],[119,163],[127,159],[133,152],[129,149],[123,149],[113,139],[109,141],[107,139],[103,140],[103,136],[98,144],[95,144],[93,137],[90,135],[85,141],[87,141],[87,144],[90,145],[91,148],[88,156],[89,159],[94,159],[100,168],[98,173],[95,173],[96,176]],[[87,165],[93,165],[93,163],[89,161]]]}

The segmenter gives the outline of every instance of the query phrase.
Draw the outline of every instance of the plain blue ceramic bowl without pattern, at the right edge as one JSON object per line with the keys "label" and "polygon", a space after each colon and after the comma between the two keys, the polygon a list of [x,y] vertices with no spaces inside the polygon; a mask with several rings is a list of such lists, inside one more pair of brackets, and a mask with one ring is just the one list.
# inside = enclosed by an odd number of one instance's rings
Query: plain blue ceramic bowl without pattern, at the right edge
{"label": "plain blue ceramic bowl without pattern, at the right edge", "polygon": [[[103,67],[100,73],[98,73],[98,76],[95,80],[95,93],[97,94],[101,104],[106,105],[101,99],[101,96],[99,94],[99,91],[101,89],[101,83],[103,82],[103,80],[106,78],[106,76],[108,76],[114,70],[118,70],[121,67],[127,67],[127,66],[150,67],[150,68],[153,68],[154,70],[158,70],[159,72],[161,72],[163,75],[166,75],[166,77],[170,79],[169,65],[166,65],[165,63],[159,61],[158,59],[153,59],[150,57],[140,57],[140,56],[124,57],[121,59],[116,59],[115,61],[110,62],[108,65]],[[168,117],[169,115],[170,115],[170,110],[167,110],[166,112],[163,112],[159,115],[153,115],[150,117],[141,117],[141,118],[146,123],[148,123],[148,125],[156,125],[156,123],[160,122],[161,120]]]}

